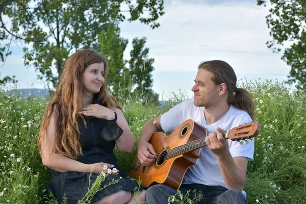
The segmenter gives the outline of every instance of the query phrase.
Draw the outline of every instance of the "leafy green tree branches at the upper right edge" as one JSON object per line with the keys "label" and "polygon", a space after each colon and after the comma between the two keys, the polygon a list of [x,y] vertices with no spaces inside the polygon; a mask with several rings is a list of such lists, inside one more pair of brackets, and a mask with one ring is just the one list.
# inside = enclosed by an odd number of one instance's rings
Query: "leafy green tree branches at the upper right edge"
{"label": "leafy green tree branches at the upper right edge", "polygon": [[[258,5],[266,6],[266,0],[258,0]],[[282,60],[291,66],[289,83],[296,83],[297,89],[306,87],[306,1],[305,0],[270,0],[270,14],[266,16],[270,35],[273,40],[267,45],[273,52],[285,48]]]}

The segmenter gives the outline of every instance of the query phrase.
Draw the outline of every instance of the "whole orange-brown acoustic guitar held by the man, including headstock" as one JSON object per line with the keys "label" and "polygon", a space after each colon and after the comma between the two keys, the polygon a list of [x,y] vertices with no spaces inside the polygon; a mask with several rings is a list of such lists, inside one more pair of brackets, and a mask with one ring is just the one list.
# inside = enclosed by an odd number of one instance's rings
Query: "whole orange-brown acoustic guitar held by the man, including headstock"
{"label": "whole orange-brown acoustic guitar held by the man, including headstock", "polygon": [[[256,137],[259,131],[260,124],[250,122],[221,134],[226,139],[240,141]],[[154,133],[149,143],[157,152],[157,158],[150,166],[143,166],[136,155],[130,175],[133,179],[141,180],[144,187],[164,184],[175,190],[179,189],[187,169],[196,165],[200,148],[207,145],[207,134],[204,127],[191,119],[183,122],[169,136],[161,132]]]}

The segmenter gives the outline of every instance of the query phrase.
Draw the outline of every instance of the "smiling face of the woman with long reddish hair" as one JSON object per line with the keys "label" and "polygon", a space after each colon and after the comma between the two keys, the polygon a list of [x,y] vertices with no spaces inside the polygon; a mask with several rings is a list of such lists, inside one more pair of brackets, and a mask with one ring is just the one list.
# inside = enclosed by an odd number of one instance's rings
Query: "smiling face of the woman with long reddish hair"
{"label": "smiling face of the woman with long reddish hair", "polygon": [[104,63],[89,65],[83,73],[83,85],[85,94],[98,93],[104,83]]}

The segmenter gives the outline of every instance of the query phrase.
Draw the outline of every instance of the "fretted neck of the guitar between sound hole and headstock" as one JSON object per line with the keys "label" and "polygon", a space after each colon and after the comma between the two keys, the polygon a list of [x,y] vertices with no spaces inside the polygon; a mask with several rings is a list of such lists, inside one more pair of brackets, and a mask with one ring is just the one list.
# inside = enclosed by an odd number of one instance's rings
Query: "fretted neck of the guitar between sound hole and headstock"
{"label": "fretted neck of the guitar between sound hole and headstock", "polygon": [[[222,135],[224,138],[227,139],[228,132],[229,132],[229,131],[223,131],[223,132],[221,132],[221,135]],[[206,138],[206,137],[203,137],[203,138],[201,138],[201,139],[198,139],[198,140],[194,140],[194,141],[188,142],[188,143],[183,144],[183,145],[181,145],[181,146],[174,147],[172,150],[170,150],[170,151],[168,152],[168,155],[165,157],[165,160],[170,159],[170,158],[172,158],[172,157],[176,157],[176,156],[185,154],[185,153],[187,153],[188,151],[192,151],[192,150],[201,148],[201,147],[203,147],[203,146],[206,146],[207,144],[206,144],[206,142],[205,142],[205,138]]]}

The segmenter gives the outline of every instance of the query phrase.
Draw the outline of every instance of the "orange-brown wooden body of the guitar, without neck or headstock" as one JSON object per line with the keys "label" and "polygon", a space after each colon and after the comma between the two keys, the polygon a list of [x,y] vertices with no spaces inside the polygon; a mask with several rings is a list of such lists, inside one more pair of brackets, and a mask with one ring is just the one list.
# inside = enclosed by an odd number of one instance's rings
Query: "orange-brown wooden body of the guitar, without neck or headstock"
{"label": "orange-brown wooden body of the guitar, without neck or headstock", "polygon": [[207,130],[191,119],[182,123],[169,136],[157,132],[152,135],[149,143],[157,154],[160,152],[158,158],[150,166],[143,166],[136,155],[129,173],[134,179],[142,180],[141,185],[144,187],[164,184],[177,190],[182,184],[187,169],[197,163],[201,148],[188,151],[167,160],[163,160],[163,158],[173,148],[206,136]]}

